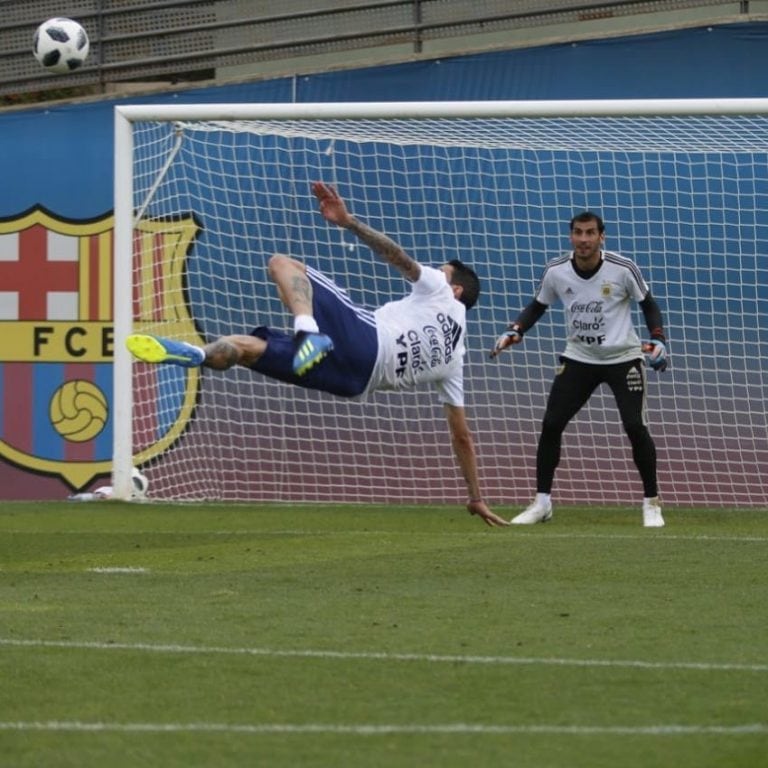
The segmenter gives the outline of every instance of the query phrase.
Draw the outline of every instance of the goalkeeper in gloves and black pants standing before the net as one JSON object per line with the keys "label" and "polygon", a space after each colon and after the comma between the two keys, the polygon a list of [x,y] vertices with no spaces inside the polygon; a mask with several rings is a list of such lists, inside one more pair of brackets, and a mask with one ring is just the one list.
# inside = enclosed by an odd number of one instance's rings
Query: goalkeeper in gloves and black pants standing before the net
{"label": "goalkeeper in gloves and black pants standing before the net", "polygon": [[[565,307],[568,329],[561,367],[547,399],[536,450],[536,497],[512,519],[517,525],[543,523],[552,517],[552,485],[560,463],[562,435],[600,384],[616,399],[632,458],[643,485],[643,525],[664,525],[658,499],[656,446],[646,425],[646,372],[643,353],[656,371],[667,367],[667,344],[661,310],[637,265],[603,250],[605,227],[591,211],[570,223],[572,251],[550,261],[535,298],[496,341],[496,357],[541,318],[556,300]],[[642,309],[650,341],[641,344],[632,324],[632,302]],[[585,477],[597,481],[599,471],[586,467]]]}

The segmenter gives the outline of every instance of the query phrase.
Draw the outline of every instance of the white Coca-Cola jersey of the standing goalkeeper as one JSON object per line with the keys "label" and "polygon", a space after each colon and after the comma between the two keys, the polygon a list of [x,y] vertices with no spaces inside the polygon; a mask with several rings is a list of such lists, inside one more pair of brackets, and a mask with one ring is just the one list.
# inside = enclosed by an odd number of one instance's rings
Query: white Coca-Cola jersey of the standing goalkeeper
{"label": "white Coca-Cola jersey of the standing goalkeeper", "polygon": [[585,363],[621,363],[642,356],[632,323],[632,305],[648,295],[637,265],[603,251],[602,264],[584,279],[573,268],[573,253],[550,261],[536,300],[549,306],[558,299],[565,308],[567,341],[563,354]]}

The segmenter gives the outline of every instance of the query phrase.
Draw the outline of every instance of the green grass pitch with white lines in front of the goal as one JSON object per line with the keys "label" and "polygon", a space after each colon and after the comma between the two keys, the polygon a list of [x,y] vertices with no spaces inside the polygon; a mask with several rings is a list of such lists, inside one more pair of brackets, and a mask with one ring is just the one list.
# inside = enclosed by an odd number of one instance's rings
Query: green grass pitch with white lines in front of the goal
{"label": "green grass pitch with white lines in front of the goal", "polygon": [[0,765],[766,766],[768,513],[665,516],[5,503]]}

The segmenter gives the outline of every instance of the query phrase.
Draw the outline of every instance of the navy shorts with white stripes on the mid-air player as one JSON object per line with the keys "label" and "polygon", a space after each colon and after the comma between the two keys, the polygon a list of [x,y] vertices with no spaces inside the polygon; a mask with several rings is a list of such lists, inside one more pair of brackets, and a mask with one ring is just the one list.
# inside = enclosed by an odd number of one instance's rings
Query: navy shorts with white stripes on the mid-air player
{"label": "navy shorts with white stripes on the mid-air player", "polygon": [[365,391],[376,363],[379,343],[373,312],[355,305],[332,280],[307,267],[312,283],[312,311],[321,333],[333,339],[333,351],[303,376],[293,372],[296,352],[291,333],[259,326],[251,331],[267,349],[251,369],[273,379],[340,397]]}

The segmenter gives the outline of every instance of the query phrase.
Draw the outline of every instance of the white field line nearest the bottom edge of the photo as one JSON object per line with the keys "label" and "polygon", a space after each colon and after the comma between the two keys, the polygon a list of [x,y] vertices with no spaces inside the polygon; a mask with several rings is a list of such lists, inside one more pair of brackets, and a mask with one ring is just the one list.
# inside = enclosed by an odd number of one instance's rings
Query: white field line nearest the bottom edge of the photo
{"label": "white field line nearest the bottom edge of the photo", "polygon": [[90,733],[242,733],[242,734],[544,734],[566,736],[742,736],[768,734],[768,724],[744,725],[490,725],[435,723],[432,725],[374,725],[334,723],[83,723],[50,720],[0,722],[0,731],[69,731]]}

